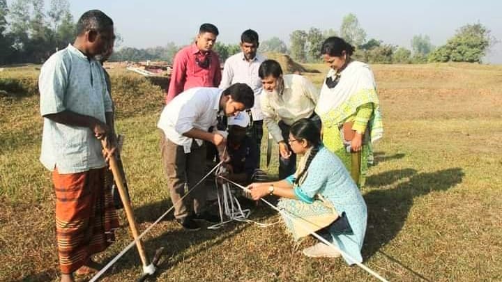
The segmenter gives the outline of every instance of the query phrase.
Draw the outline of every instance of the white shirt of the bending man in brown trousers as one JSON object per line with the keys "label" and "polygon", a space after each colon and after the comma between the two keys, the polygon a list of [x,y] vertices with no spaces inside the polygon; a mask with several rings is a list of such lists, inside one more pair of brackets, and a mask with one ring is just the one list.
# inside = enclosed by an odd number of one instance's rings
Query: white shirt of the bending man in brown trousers
{"label": "white shirt of the bending man in brown trousers", "polygon": [[[209,127],[217,125],[222,92],[218,88],[197,87],[176,95],[162,110],[157,127],[164,131],[167,139],[189,153],[193,139],[183,134],[193,128],[208,131]],[[195,141],[202,146],[202,140]]]}

